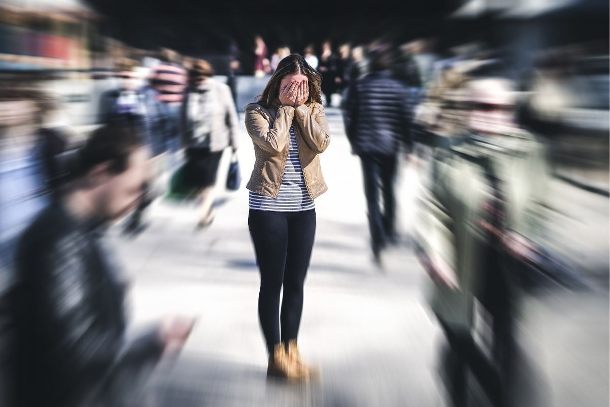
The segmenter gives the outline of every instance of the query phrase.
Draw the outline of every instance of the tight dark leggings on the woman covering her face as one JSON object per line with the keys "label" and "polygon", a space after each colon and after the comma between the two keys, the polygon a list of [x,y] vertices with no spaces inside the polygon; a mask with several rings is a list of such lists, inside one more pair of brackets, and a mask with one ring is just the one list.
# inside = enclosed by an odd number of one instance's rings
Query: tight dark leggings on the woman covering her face
{"label": "tight dark leggings on the woman covering her face", "polygon": [[[301,212],[250,209],[248,226],[260,270],[259,319],[270,353],[280,340],[296,339],[298,335],[315,223],[315,209]],[[282,284],[284,298],[280,314]]]}

